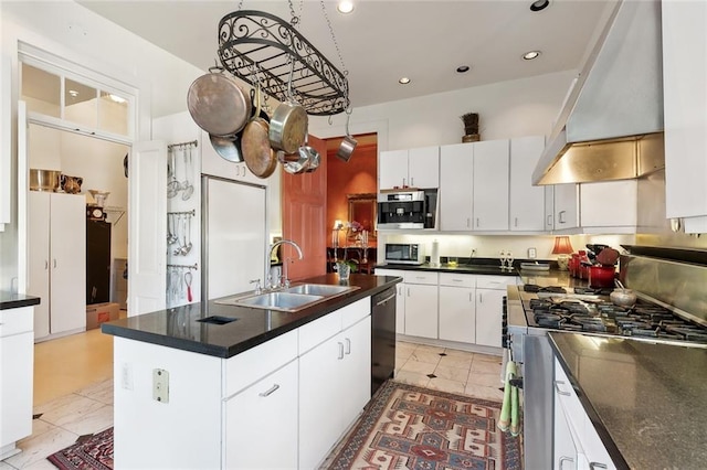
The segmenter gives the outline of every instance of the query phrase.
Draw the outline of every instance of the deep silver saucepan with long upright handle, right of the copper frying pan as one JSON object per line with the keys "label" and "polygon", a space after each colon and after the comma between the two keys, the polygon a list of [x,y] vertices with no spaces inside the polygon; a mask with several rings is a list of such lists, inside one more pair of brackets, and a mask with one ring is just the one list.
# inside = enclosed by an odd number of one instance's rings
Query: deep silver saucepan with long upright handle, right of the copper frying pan
{"label": "deep silver saucepan with long upright handle, right of the copper frying pan", "polygon": [[307,137],[307,111],[292,97],[294,62],[289,62],[287,100],[281,103],[270,120],[270,145],[275,150],[295,153]]}

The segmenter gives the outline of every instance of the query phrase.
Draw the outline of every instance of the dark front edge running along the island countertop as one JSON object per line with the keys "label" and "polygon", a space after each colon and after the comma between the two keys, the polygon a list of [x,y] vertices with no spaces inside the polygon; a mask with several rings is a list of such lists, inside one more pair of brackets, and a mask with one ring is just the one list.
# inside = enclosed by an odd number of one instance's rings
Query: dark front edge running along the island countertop
{"label": "dark front edge running along the island countertop", "polygon": [[[379,276],[382,277],[382,276]],[[274,338],[277,338],[282,334],[285,334],[292,330],[295,330],[304,324],[307,324],[314,320],[317,320],[335,310],[339,310],[350,303],[354,303],[360,299],[366,297],[374,296],[378,292],[381,292],[388,289],[391,286],[394,286],[402,281],[400,277],[391,277],[386,276],[387,281],[368,288],[357,289],[350,293],[347,293],[341,297],[333,298],[325,303],[319,306],[313,306],[312,313],[307,314],[304,318],[293,320],[286,324],[283,324],[276,329],[264,331],[263,333],[256,334],[246,340],[236,342],[229,346],[215,345],[215,344],[207,344],[200,341],[183,339],[183,338],[175,338],[167,334],[160,334],[149,331],[141,331],[135,328],[129,328],[125,324],[122,324],[122,321],[110,321],[101,324],[101,331],[105,334],[112,334],[114,337],[125,338],[128,340],[141,341],[146,343],[162,345],[166,348],[172,348],[176,350],[194,352],[199,354],[211,355],[221,359],[233,357],[244,351],[247,351],[252,348],[255,348],[260,344],[263,344],[266,341],[270,341]],[[193,308],[200,308],[201,303],[192,303]],[[160,311],[158,311],[160,312]],[[145,313],[145,314],[154,314],[158,312]],[[139,317],[139,316],[138,316]]]}

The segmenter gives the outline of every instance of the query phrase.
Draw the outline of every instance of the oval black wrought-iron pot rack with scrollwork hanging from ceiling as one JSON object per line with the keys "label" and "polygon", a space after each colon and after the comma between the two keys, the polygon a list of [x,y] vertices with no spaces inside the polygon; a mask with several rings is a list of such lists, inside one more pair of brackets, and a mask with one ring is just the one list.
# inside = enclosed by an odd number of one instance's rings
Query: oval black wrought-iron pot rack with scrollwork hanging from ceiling
{"label": "oval black wrought-iron pot rack with scrollwork hanging from ceiling", "polygon": [[257,10],[235,11],[219,22],[219,58],[223,68],[252,86],[260,79],[263,92],[279,102],[289,98],[291,57],[294,62],[292,97],[307,114],[331,116],[349,107],[346,74],[293,24]]}

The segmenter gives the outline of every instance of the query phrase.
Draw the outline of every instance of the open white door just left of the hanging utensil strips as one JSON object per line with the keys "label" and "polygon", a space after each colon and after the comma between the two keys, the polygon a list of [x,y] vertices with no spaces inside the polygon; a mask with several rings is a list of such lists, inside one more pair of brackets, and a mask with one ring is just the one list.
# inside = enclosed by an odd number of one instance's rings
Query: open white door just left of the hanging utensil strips
{"label": "open white door just left of the hanging utensil strips", "polygon": [[128,162],[128,317],[135,317],[166,305],[167,145],[135,143]]}

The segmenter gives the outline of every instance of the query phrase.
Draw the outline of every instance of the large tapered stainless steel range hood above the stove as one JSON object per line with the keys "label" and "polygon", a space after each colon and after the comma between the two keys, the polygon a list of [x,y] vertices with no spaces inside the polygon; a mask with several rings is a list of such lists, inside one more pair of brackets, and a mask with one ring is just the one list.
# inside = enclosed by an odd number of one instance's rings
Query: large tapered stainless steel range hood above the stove
{"label": "large tapered stainless steel range hood above the stove", "polygon": [[624,0],[574,81],[532,184],[625,180],[665,167],[661,2]]}

